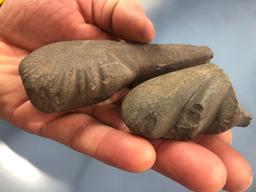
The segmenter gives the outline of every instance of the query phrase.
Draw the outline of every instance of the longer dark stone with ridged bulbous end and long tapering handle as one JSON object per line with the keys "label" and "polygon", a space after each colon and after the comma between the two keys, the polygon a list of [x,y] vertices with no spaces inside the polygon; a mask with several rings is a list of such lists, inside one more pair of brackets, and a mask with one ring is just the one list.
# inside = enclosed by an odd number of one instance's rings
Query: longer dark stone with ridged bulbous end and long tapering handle
{"label": "longer dark stone with ridged bulbous end and long tapering handle", "polygon": [[46,45],[20,64],[32,104],[43,112],[84,107],[163,73],[208,62],[208,47],[67,41]]}

